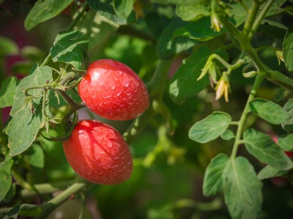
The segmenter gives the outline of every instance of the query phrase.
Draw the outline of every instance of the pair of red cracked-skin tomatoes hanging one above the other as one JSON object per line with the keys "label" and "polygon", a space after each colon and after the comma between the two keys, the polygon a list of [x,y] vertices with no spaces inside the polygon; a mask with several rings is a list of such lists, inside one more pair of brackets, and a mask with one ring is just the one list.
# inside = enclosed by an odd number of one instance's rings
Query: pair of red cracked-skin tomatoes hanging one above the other
{"label": "pair of red cracked-skin tomatoes hanging one above the other", "polygon": [[[149,104],[146,86],[125,64],[110,59],[93,62],[78,86],[84,104],[112,120],[130,120]],[[126,141],[114,128],[94,120],[82,120],[70,139],[63,142],[66,158],[84,179],[117,184],[130,178],[132,157]]]}

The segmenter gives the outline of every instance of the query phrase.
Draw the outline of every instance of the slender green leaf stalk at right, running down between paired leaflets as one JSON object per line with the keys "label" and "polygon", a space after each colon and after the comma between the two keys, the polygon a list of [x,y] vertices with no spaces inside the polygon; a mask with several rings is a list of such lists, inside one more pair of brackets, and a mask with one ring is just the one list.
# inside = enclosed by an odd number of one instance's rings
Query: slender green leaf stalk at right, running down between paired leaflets
{"label": "slender green leaf stalk at right, running down between paired leaflets", "polygon": [[246,102],[245,108],[244,108],[243,113],[242,113],[242,115],[240,117],[240,120],[239,120],[238,128],[237,128],[237,131],[236,131],[236,136],[235,136],[235,141],[234,141],[234,145],[233,145],[233,149],[232,149],[232,153],[231,153],[231,159],[235,159],[236,154],[237,154],[237,150],[238,150],[238,146],[241,143],[240,138],[241,138],[241,135],[242,135],[242,128],[243,128],[244,122],[245,122],[245,120],[247,118],[247,115],[248,115],[248,113],[250,111],[249,103],[251,102],[251,100],[253,100],[253,98],[255,96],[255,93],[256,93],[256,90],[260,86],[260,84],[263,81],[264,77],[265,76],[264,76],[263,73],[258,73],[256,75],[256,77],[255,77],[255,80],[254,80],[254,83],[253,83],[253,86],[252,86],[252,90],[251,90],[251,92],[249,94],[249,97],[248,97],[248,100]]}

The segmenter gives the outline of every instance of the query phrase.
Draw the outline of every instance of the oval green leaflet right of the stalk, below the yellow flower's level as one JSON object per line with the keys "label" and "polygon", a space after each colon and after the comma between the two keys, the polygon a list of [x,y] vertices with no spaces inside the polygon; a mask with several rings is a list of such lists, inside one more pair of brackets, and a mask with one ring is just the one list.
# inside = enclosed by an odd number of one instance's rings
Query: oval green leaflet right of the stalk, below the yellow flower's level
{"label": "oval green leaflet right of the stalk, below the yellow flower's level", "polygon": [[290,118],[289,113],[282,107],[263,98],[253,99],[250,102],[250,109],[260,118],[274,125],[284,123]]}

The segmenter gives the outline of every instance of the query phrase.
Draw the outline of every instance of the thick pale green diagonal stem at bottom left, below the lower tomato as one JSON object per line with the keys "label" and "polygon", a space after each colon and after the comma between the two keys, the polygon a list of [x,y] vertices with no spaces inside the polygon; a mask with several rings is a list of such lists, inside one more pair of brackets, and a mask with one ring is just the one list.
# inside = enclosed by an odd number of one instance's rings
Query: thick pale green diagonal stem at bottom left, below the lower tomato
{"label": "thick pale green diagonal stem at bottom left, below the lower tomato", "polygon": [[36,219],[46,218],[54,209],[66,201],[71,195],[81,191],[86,186],[86,183],[74,183],[66,190],[64,190],[60,195],[54,197],[50,201],[41,205],[42,212],[36,217]]}

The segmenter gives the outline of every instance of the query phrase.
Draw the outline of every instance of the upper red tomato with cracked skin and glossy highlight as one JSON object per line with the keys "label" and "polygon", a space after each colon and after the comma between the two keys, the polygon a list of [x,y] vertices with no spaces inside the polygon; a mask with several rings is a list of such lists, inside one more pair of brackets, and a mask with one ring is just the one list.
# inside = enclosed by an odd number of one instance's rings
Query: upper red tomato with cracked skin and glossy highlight
{"label": "upper red tomato with cracked skin and glossy highlight", "polygon": [[149,104],[140,77],[125,64],[111,59],[91,63],[78,92],[90,110],[111,120],[134,119]]}

